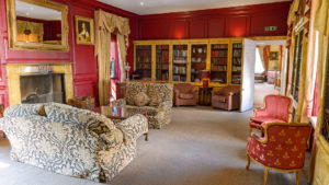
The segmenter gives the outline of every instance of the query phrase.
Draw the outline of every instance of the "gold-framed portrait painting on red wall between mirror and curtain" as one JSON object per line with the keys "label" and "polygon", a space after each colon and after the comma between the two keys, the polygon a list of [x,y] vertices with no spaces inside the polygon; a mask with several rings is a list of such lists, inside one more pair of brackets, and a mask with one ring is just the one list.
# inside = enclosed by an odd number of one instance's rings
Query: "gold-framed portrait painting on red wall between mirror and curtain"
{"label": "gold-framed portrait painting on red wall between mirror and curtain", "polygon": [[76,42],[77,44],[93,45],[93,20],[76,15]]}

